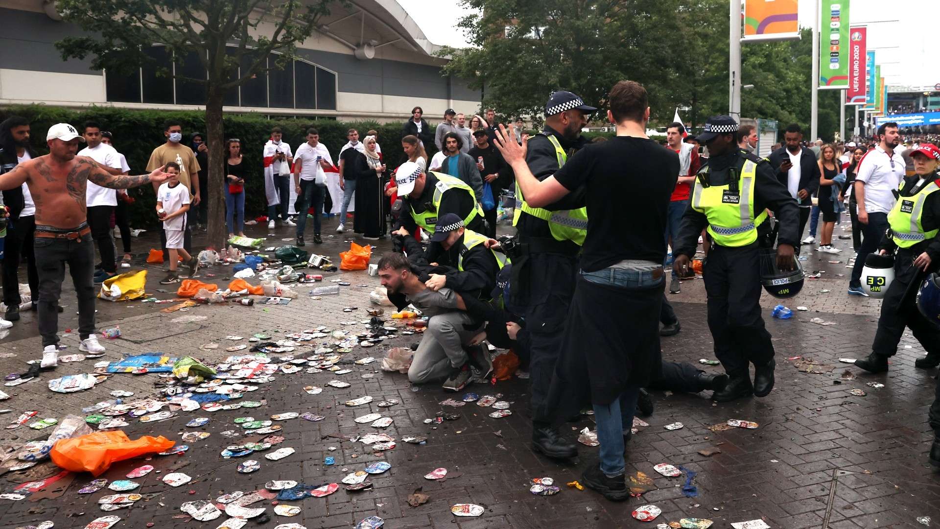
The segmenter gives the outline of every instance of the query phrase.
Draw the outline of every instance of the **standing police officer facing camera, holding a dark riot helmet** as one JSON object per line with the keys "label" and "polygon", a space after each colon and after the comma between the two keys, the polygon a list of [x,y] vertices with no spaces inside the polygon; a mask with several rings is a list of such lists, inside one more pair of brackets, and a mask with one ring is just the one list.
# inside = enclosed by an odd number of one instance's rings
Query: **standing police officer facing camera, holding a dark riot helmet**
{"label": "standing police officer facing camera, holding a dark riot helmet", "polygon": [[[697,174],[673,264],[683,277],[692,274],[698,234],[708,227],[712,247],[703,270],[708,295],[708,324],[715,356],[730,379],[713,400],[728,402],[750,395],[766,396],[774,388],[774,345],[760,317],[760,257],[758,240],[771,232],[765,208],[779,225],[777,265],[795,266],[793,248],[799,245],[800,217],[796,201],[776,179],[763,158],[742,151],[734,141],[738,123],[729,116],[710,118],[697,139],[708,146],[709,166]],[[754,364],[754,383],[748,372]]]}

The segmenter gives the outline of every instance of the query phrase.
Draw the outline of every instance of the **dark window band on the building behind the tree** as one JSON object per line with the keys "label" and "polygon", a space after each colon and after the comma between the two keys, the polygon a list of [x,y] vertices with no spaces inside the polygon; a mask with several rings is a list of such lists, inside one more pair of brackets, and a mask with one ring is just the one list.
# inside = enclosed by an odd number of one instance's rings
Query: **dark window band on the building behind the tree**
{"label": "dark window band on the building behind the tree", "polygon": [[[228,53],[233,48],[229,47]],[[108,75],[105,72],[105,92],[109,102],[144,104],[205,104],[205,85],[186,79],[173,79],[158,75],[165,68],[180,77],[205,78],[206,71],[196,53],[185,57],[174,57],[163,45],[151,46],[147,55],[152,64],[142,67],[137,75]],[[278,54],[266,57],[268,68],[274,68]],[[247,72],[253,62],[243,56],[239,72],[232,79]],[[228,90],[227,106],[260,108],[304,108],[336,110],[337,74],[305,60],[290,61],[283,69],[260,72],[241,87]]]}

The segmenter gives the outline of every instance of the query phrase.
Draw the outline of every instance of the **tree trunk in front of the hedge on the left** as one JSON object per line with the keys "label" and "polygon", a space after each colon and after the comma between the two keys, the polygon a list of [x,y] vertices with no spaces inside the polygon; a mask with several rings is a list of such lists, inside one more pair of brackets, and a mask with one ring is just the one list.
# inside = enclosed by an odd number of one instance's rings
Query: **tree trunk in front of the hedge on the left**
{"label": "tree trunk in front of the hedge on the left", "polygon": [[206,99],[206,140],[209,144],[209,173],[206,186],[202,191],[202,200],[209,200],[209,226],[207,248],[222,252],[227,248],[226,228],[226,159],[228,152],[225,131],[222,123],[222,102],[224,93],[210,85]]}

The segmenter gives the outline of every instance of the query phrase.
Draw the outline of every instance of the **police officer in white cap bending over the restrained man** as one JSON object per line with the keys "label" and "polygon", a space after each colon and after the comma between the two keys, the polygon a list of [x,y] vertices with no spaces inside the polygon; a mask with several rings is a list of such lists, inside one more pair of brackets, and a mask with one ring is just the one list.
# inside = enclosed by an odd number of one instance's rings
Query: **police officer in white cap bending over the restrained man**
{"label": "police officer in white cap bending over the restrained man", "polygon": [[461,179],[441,172],[426,174],[415,162],[405,162],[395,173],[395,183],[401,197],[399,228],[414,233],[420,226],[433,233],[438,217],[453,213],[468,229],[486,231],[483,208],[473,189]]}

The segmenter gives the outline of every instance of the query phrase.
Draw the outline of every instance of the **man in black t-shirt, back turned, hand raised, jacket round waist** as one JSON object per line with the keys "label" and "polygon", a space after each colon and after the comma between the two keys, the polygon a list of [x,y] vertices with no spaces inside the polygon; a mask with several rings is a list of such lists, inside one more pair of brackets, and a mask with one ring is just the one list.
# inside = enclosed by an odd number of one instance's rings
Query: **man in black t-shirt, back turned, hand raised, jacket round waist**
{"label": "man in black t-shirt, back turned, hand raised, jacket round waist", "polygon": [[[593,405],[601,464],[582,483],[609,500],[629,497],[623,432],[629,432],[639,389],[661,370],[659,313],[666,284],[666,210],[679,156],[646,136],[646,89],[620,81],[608,94],[607,119],[617,136],[587,145],[539,181],[525,164],[525,146],[500,127],[497,148],[532,207],[584,189],[587,236],[562,346],[545,409],[572,417]],[[526,324],[528,321],[526,319]],[[533,357],[533,361],[534,361]]]}

